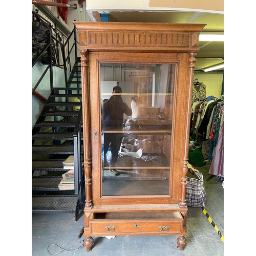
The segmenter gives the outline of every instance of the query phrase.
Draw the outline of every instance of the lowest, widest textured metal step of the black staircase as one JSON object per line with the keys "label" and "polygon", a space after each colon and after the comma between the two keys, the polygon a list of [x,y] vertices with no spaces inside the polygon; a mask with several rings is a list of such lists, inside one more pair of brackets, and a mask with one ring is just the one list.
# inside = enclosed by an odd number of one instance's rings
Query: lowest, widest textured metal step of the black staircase
{"label": "lowest, widest textured metal step of the black staircase", "polygon": [[32,213],[75,212],[77,196],[32,196]]}

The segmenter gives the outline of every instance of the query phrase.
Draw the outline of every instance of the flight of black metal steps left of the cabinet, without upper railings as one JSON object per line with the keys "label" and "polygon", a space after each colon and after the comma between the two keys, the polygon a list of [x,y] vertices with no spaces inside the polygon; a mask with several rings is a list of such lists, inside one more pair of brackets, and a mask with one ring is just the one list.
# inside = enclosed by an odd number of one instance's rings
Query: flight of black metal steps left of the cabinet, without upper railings
{"label": "flight of black metal steps left of the cabinet, without upper railings", "polygon": [[[84,205],[80,58],[67,88],[54,88],[32,130],[32,213],[75,212]],[[74,155],[74,189],[60,190],[62,162]]]}

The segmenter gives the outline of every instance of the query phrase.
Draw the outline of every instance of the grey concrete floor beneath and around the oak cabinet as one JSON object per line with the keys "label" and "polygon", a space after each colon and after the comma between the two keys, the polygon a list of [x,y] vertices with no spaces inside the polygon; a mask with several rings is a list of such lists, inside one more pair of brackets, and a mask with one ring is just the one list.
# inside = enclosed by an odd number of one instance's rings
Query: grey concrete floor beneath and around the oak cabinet
{"label": "grey concrete floor beneath and around the oak cabinet", "polygon": [[[224,188],[222,181],[208,174],[210,163],[197,167],[203,173],[205,210],[224,237]],[[77,238],[84,225],[83,216],[75,222],[74,213],[32,214],[32,256],[151,256],[151,255],[224,255],[224,242],[201,208],[188,207],[187,244],[176,247],[178,236],[117,236],[94,238],[92,250]],[[65,250],[65,251],[63,251]]]}

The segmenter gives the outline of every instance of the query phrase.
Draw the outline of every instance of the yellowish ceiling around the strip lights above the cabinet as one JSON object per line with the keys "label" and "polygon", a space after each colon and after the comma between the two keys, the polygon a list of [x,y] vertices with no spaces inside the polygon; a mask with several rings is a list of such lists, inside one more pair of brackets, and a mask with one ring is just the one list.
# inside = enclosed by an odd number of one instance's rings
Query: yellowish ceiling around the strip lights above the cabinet
{"label": "yellowish ceiling around the strip lights above the cabinet", "polygon": [[[92,21],[101,22],[101,13],[107,13],[109,22],[193,23],[206,24],[204,32],[224,32],[224,15],[205,12],[90,10]],[[224,63],[223,41],[200,41],[195,71]],[[220,69],[223,70],[223,69]],[[220,71],[219,70],[219,71]]]}

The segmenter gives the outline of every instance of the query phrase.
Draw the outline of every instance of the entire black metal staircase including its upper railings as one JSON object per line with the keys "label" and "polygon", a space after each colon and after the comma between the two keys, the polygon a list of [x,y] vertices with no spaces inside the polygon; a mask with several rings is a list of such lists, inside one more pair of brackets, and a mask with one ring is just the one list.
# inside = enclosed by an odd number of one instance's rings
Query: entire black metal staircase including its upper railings
{"label": "entire black metal staircase including its upper railings", "polygon": [[[38,10],[32,11],[32,28],[36,30],[40,25],[47,32],[44,35],[48,35],[41,50],[35,52],[37,55],[32,54],[32,68],[37,61],[45,65],[32,88],[32,95],[44,103],[32,129],[32,213],[74,212],[77,220],[85,202],[81,62],[77,56],[76,29],[67,34],[65,27],[51,21],[49,13],[48,10],[44,15],[50,21],[39,15]],[[32,33],[32,53],[33,38],[40,36]],[[55,81],[56,70],[65,82]],[[43,80],[49,81],[48,99],[36,91]],[[63,161],[70,155],[74,156],[74,185],[60,189],[62,175],[68,171],[63,168]]]}

